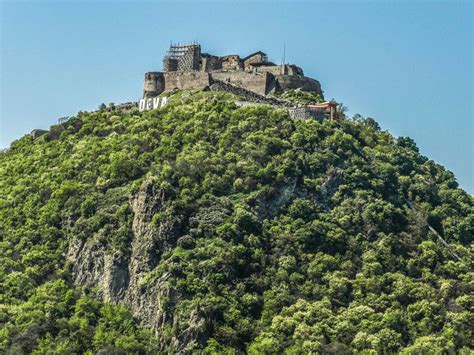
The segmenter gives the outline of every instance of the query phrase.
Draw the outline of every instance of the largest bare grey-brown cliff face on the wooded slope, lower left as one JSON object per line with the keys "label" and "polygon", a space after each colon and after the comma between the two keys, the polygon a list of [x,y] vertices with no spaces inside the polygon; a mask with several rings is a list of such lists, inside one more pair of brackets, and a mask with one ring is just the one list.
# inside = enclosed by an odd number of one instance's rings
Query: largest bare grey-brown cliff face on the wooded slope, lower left
{"label": "largest bare grey-brown cliff face on the wooded slope, lower left", "polygon": [[[111,255],[106,245],[97,240],[72,238],[67,258],[73,265],[76,284],[97,287],[99,296],[106,301],[125,303],[142,324],[160,336],[165,323],[172,322],[172,315],[166,314],[162,305],[162,300],[174,297],[166,281],[169,275],[161,275],[147,287],[140,282],[157,265],[161,253],[173,247],[180,226],[166,218],[173,210],[165,192],[152,180],[145,181],[130,198],[130,206],[134,218],[129,255]],[[157,213],[164,217],[153,223]]]}

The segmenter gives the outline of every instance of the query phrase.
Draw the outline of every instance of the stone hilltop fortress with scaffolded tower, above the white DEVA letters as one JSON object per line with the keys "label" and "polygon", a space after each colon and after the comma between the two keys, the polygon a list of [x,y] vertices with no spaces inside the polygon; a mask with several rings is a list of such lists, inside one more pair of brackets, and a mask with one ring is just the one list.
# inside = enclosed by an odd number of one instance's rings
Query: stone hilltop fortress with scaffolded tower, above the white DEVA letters
{"label": "stone hilltop fortress with scaffolded tower, above the white DEVA letters", "polygon": [[220,83],[258,95],[302,89],[322,96],[317,80],[304,76],[296,65],[277,65],[258,51],[244,58],[239,55],[215,56],[201,52],[197,43],[171,44],[163,59],[162,72],[145,74],[143,98],[153,98],[175,89],[197,89]]}

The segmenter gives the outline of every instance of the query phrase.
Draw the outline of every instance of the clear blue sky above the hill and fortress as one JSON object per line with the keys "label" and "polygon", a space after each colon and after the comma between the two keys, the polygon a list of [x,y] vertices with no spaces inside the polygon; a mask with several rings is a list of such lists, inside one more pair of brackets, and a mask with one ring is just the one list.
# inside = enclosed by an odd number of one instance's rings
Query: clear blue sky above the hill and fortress
{"label": "clear blue sky above the hill and fortress", "polygon": [[[1,2],[2,0],[0,0]],[[266,52],[374,117],[474,193],[471,1],[3,1],[0,147],[102,102],[137,100],[170,41]]]}

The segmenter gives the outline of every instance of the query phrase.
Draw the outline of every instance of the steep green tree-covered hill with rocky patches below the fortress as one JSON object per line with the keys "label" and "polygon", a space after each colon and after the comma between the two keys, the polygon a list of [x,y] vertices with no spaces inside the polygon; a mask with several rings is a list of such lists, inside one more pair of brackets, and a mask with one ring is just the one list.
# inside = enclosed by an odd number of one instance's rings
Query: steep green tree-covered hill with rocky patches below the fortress
{"label": "steep green tree-covered hill with rocky patches below the fortress", "polygon": [[473,349],[454,176],[372,119],[234,99],[79,113],[0,154],[2,349]]}

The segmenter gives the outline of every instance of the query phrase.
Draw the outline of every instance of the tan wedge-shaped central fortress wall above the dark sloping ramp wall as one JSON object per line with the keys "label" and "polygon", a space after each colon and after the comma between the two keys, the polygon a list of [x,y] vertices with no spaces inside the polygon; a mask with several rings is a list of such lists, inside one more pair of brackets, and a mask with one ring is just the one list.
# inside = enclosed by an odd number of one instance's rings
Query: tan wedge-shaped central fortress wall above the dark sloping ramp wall
{"label": "tan wedge-shaped central fortress wall above the dark sloping ramp wall", "polygon": [[212,73],[212,77],[220,81],[244,87],[260,95],[267,94],[268,87],[273,80],[273,76],[268,73],[254,74],[245,71],[214,72]]}

